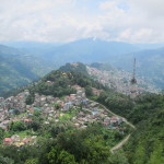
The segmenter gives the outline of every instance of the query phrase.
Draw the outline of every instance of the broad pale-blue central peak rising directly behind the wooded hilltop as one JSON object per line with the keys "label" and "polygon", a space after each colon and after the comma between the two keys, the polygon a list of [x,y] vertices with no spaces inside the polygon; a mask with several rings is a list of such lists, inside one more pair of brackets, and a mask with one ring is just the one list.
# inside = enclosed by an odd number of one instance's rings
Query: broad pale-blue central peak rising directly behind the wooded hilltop
{"label": "broad pale-blue central peak rising directly behind the wooded hilltop", "polygon": [[87,38],[58,46],[47,52],[49,54],[47,57],[60,63],[74,61],[89,63],[99,60],[104,61],[106,58],[114,57],[114,55],[136,50],[138,50],[138,48],[130,44]]}

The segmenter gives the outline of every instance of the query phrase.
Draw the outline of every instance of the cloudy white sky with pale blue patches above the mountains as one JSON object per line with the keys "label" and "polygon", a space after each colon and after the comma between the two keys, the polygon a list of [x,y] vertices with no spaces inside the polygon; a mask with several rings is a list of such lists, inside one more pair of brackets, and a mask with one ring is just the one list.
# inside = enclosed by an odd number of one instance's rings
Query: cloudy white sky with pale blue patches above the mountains
{"label": "cloudy white sky with pale blue patches above the mountains", "polygon": [[0,42],[164,43],[164,0],[0,0]]}

